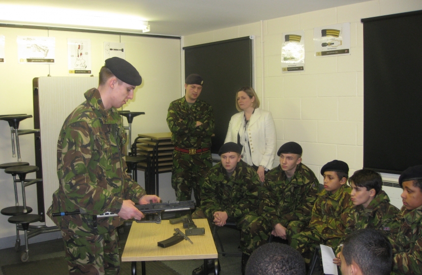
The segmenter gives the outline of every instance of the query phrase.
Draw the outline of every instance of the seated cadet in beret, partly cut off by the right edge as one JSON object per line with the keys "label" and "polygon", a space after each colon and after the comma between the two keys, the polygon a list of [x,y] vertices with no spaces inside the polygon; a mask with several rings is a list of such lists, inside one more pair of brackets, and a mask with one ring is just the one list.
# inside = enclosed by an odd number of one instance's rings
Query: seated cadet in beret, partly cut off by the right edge
{"label": "seated cadet in beret, partly cut off by the right edge", "polygon": [[403,207],[398,214],[399,232],[393,244],[391,274],[422,274],[422,165],[409,167],[399,178]]}

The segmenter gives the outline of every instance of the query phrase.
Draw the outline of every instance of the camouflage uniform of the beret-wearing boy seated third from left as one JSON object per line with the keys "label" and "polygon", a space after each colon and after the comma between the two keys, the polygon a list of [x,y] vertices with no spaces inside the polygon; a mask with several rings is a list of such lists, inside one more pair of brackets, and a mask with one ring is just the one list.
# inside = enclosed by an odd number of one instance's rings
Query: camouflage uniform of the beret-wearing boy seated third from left
{"label": "camouflage uniform of the beret-wearing boy seated third from left", "polygon": [[317,194],[308,228],[293,235],[290,244],[302,253],[306,264],[309,265],[312,259],[315,245],[322,243],[336,250],[344,235],[352,231],[354,219],[350,192],[349,186],[342,185],[335,194],[326,190]]}

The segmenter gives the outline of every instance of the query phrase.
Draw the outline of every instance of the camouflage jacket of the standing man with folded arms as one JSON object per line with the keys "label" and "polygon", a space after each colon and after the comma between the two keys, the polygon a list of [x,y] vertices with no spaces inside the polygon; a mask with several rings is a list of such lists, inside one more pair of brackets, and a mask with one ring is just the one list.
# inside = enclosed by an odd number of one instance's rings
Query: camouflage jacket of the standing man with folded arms
{"label": "camouflage jacket of the standing man with folded arms", "polygon": [[[196,127],[196,122],[202,125]],[[186,149],[211,147],[211,135],[214,133],[213,107],[205,101],[196,100],[191,107],[185,97],[170,103],[167,124],[171,131],[171,142]]]}

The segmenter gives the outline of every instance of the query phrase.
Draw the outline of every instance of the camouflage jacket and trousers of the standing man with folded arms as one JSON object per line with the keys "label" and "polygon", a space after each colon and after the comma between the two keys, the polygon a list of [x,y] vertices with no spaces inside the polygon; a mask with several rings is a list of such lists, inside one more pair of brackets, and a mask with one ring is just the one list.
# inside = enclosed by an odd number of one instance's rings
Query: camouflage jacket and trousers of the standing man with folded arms
{"label": "camouflage jacket and trousers of the standing man with folded arms", "polygon": [[[202,125],[196,127],[196,121]],[[211,135],[214,132],[213,107],[205,101],[196,100],[189,106],[185,97],[174,100],[168,107],[167,124],[172,132],[171,142],[183,149],[201,149],[211,147]],[[197,205],[201,201],[201,185],[209,168],[213,167],[211,151],[199,154],[173,151],[171,186],[176,199],[188,201],[194,190]]]}

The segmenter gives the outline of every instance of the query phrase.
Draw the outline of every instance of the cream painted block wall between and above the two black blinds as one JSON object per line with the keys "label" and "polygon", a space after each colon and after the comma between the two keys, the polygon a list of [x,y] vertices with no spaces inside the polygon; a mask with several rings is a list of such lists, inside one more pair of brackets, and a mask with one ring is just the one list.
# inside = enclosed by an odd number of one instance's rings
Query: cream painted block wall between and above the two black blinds
{"label": "cream painted block wall between and above the two black blinds", "polygon": [[[272,112],[277,145],[302,145],[303,162],[322,182],[321,167],[333,159],[349,164],[350,175],[363,167],[363,24],[361,18],[422,9],[417,0],[376,0],[281,17],[184,37],[185,46],[255,35],[254,88],[264,95],[264,109]],[[313,29],[350,22],[351,55],[316,58]],[[305,31],[305,71],[282,73],[282,33]],[[261,70],[264,70],[264,91]],[[275,166],[278,165],[276,161]],[[400,192],[390,192],[401,207]]]}

